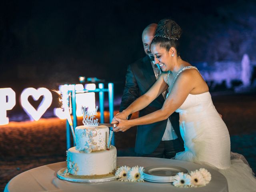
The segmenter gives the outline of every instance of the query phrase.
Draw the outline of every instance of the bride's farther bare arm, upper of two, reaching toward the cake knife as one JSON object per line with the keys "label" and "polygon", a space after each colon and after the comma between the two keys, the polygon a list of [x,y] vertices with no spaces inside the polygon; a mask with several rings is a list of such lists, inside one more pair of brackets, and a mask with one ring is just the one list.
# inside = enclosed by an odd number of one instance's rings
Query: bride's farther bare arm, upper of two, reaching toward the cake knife
{"label": "bride's farther bare arm, upper of two, reaching toward the cake knife", "polygon": [[154,99],[156,99],[162,92],[168,88],[166,82],[164,82],[164,74],[161,74],[158,80],[153,86],[142,96],[136,99],[128,108],[117,114],[115,118],[126,118],[130,114],[142,110],[148,106]]}

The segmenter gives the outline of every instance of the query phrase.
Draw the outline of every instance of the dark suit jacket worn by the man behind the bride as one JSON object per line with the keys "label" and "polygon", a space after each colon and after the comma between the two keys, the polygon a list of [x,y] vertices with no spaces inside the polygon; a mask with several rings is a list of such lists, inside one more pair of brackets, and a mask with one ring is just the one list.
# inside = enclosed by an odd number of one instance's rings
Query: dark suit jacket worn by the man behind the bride
{"label": "dark suit jacket worn by the man behind the bride", "polygon": [[[120,112],[126,109],[136,98],[145,94],[150,87],[156,82],[154,70],[148,56],[136,61],[128,66],[126,74],[126,84]],[[162,94],[158,96],[149,106],[140,110],[139,116],[144,116],[162,108],[164,97]],[[179,114],[174,112],[169,117],[172,126],[183,144],[179,128]],[[160,144],[162,136],[166,128],[167,119],[155,122],[153,124],[141,125],[137,127],[135,152],[140,154],[151,154]]]}

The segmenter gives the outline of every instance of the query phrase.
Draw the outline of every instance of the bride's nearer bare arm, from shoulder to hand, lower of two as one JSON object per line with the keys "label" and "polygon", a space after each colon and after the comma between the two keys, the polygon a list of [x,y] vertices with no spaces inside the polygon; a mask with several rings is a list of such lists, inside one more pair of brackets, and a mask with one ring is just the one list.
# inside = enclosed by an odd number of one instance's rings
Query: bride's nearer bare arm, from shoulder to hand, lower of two
{"label": "bride's nearer bare arm, from shoulder to hand, lower of two", "polygon": [[118,121],[119,124],[114,131],[126,131],[132,126],[152,124],[154,122],[167,119],[176,109],[182,105],[194,87],[195,80],[193,79],[193,76],[191,76],[187,71],[182,72],[182,74],[180,74],[179,78],[174,83],[168,98],[165,100],[164,105],[160,110],[132,120],[116,118],[115,120]]}

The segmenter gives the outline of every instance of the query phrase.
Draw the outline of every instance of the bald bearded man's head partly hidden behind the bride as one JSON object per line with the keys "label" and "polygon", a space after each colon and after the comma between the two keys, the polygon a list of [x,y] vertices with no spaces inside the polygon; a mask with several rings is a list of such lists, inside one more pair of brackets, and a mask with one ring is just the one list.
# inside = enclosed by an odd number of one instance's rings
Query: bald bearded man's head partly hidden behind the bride
{"label": "bald bearded man's head partly hidden behind the bride", "polygon": [[146,28],[142,32],[142,42],[143,42],[144,51],[152,61],[154,61],[154,55],[150,51],[150,44],[154,38],[156,28],[157,28],[157,24],[152,23],[146,26]]}

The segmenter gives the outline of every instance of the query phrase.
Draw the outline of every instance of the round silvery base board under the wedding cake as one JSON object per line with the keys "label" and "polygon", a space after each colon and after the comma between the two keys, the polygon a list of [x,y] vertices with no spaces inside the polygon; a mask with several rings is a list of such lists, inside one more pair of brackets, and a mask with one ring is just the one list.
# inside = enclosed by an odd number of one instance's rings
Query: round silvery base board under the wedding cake
{"label": "round silvery base board under the wedding cake", "polygon": [[[116,180],[116,176],[114,174],[97,176],[98,178],[82,178],[83,176],[76,176],[69,174],[67,176],[62,175],[66,168],[62,168],[57,172],[57,177],[62,180],[70,181],[70,182],[78,182],[78,183],[100,183],[100,182],[108,182],[112,180]],[[90,177],[90,176],[89,176]],[[93,176],[92,176],[93,177]]]}

